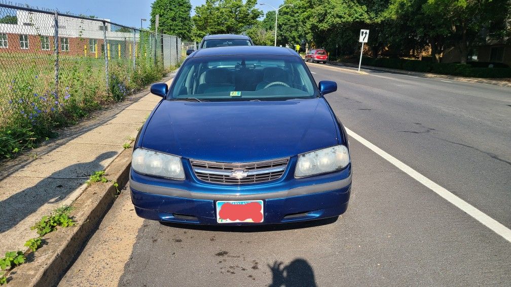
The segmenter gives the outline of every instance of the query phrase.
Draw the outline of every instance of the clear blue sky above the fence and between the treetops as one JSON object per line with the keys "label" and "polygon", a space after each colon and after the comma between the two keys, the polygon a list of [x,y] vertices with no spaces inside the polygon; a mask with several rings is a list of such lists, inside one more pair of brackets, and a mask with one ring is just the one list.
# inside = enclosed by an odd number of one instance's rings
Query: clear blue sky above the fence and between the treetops
{"label": "clear blue sky above the fence and between the treetops", "polygon": [[[154,0],[12,0],[13,3],[28,4],[39,8],[57,8],[60,12],[71,12],[73,14],[95,15],[98,18],[110,19],[111,22],[119,23],[129,27],[140,28],[141,18],[150,19],[151,4]],[[191,0],[192,15],[195,6],[204,4],[205,0]],[[259,3],[268,3],[274,7],[284,3],[284,0],[259,0],[257,8],[265,13],[272,8]],[[147,28],[149,21],[143,22]]]}

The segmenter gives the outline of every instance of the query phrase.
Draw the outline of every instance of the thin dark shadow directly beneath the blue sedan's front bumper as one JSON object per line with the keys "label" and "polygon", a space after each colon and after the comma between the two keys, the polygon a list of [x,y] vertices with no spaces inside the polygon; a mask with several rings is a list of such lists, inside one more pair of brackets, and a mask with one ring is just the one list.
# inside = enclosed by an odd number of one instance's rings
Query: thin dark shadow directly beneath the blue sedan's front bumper
{"label": "thin dark shadow directly beneath the blue sedan's front bumper", "polygon": [[267,232],[267,231],[280,231],[316,227],[321,225],[332,224],[337,221],[339,217],[331,217],[326,219],[311,220],[304,222],[283,223],[283,224],[266,224],[266,225],[197,225],[197,224],[184,224],[172,222],[160,222],[162,225],[192,230],[203,231],[219,231],[219,232]]}

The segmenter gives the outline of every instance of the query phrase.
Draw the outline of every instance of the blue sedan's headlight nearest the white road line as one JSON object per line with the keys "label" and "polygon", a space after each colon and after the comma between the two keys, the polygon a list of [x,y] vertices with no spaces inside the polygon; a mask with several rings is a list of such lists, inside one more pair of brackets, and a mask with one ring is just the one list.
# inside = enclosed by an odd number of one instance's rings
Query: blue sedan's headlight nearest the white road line
{"label": "blue sedan's headlight nearest the white road line", "polygon": [[344,146],[335,146],[298,155],[295,177],[307,177],[338,171],[350,163],[350,154]]}

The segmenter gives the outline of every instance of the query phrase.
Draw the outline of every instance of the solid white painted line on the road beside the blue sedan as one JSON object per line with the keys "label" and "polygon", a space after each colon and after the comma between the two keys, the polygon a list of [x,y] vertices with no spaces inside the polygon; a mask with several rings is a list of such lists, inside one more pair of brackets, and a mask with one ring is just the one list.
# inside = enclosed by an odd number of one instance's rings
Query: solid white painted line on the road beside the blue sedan
{"label": "solid white painted line on the road beside the blue sedan", "polygon": [[457,197],[456,195],[449,192],[449,190],[445,189],[444,187],[434,183],[429,178],[423,176],[419,172],[415,171],[414,169],[410,168],[410,166],[406,165],[399,159],[389,155],[382,149],[378,148],[377,146],[373,145],[373,143],[370,143],[365,138],[361,137],[360,135],[356,134],[352,130],[346,128],[347,133],[362,143],[362,145],[366,146],[371,151],[374,151],[379,156],[386,159],[388,162],[392,163],[393,165],[396,165],[398,169],[405,172],[407,175],[411,176],[415,180],[419,181],[420,183],[424,184],[429,189],[433,190],[437,195],[443,197],[445,200],[449,201],[450,203],[454,204],[459,209],[463,210],[467,214],[469,214],[471,217],[482,223],[484,226],[490,228],[491,230],[495,231],[495,233],[499,234],[500,236],[504,237],[505,240],[508,242],[511,242],[511,229],[505,227],[500,222],[496,221],[495,219],[489,217],[486,215],[486,213],[482,212],[481,210],[475,208],[470,203],[462,200],[461,198]]}

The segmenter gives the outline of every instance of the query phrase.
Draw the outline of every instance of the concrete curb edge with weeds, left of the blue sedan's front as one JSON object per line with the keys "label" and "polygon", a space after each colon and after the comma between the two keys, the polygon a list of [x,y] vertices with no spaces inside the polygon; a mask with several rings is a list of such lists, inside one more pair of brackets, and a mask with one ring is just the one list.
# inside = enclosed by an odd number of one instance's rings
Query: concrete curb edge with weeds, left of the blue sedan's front
{"label": "concrete curb edge with weeds, left of the blue sedan's front", "polygon": [[11,272],[9,286],[47,287],[59,283],[115,201],[117,189],[113,183],[122,187],[128,182],[132,152],[132,148],[124,150],[107,166],[105,172],[109,182],[94,183],[84,190],[73,203],[75,208],[71,212],[77,225],[45,236],[48,245],[32,253],[35,255],[33,260]]}

